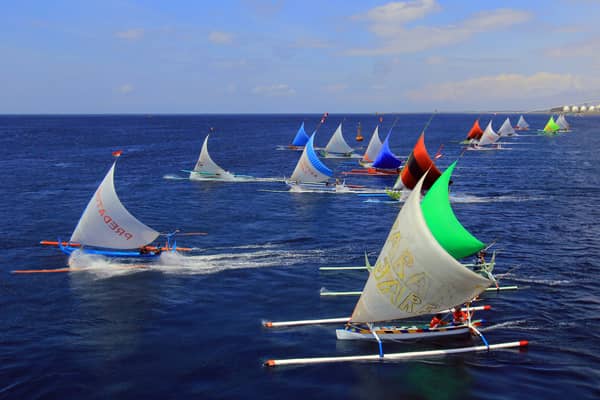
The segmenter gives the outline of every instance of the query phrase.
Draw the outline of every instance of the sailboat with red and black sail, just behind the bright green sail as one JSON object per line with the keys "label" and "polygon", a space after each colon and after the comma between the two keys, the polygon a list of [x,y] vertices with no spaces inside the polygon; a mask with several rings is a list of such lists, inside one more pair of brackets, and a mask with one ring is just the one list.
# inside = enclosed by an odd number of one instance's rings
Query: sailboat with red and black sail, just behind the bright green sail
{"label": "sailboat with red and black sail, just behind the bright green sail", "polygon": [[429,171],[429,173],[423,182],[423,190],[429,190],[442,174],[433,163],[431,157],[429,157],[429,153],[425,147],[425,132],[423,132],[421,133],[421,136],[419,136],[408,160],[404,163],[402,171],[400,172],[400,175],[398,175],[398,179],[396,179],[394,186],[391,190],[386,190],[386,193],[391,198],[399,200],[402,197],[403,189],[414,189],[419,179],[421,179],[427,171]]}

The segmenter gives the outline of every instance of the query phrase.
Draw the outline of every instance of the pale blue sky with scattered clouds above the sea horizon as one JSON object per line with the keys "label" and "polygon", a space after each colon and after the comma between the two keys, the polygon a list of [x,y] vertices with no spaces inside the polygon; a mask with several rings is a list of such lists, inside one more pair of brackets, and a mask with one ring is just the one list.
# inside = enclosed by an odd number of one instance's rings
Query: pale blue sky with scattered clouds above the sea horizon
{"label": "pale blue sky with scattered clouds above the sea horizon", "polygon": [[0,114],[600,104],[599,0],[25,0],[0,9]]}

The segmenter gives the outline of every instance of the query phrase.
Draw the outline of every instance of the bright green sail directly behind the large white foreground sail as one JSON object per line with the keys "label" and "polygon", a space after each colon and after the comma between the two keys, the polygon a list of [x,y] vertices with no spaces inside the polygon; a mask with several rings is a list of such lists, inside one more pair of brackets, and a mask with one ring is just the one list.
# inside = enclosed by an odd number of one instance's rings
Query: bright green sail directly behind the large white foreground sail
{"label": "bright green sail directly behind the large white foreground sail", "polygon": [[435,181],[421,202],[421,210],[438,243],[459,259],[475,254],[485,245],[462,226],[450,206],[448,185],[455,166],[456,161]]}

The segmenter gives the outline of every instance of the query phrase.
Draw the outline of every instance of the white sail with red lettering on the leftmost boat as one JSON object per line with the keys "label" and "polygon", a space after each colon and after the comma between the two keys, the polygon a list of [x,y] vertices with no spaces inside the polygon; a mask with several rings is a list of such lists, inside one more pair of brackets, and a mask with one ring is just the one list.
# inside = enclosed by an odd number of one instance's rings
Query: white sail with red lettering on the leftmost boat
{"label": "white sail with red lettering on the leftmost boat", "polygon": [[107,249],[135,249],[159,233],[138,221],[121,204],[114,184],[115,163],[81,215],[71,242]]}

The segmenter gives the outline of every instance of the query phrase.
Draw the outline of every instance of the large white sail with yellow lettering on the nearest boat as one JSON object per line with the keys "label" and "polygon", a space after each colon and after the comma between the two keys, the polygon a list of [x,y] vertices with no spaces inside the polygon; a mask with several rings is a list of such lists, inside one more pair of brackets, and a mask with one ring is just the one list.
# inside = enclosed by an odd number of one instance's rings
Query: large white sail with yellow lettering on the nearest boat
{"label": "large white sail with yellow lettering on the nearest boat", "polygon": [[400,210],[351,321],[381,322],[441,312],[473,299],[491,284],[456,261],[427,227],[420,205],[425,176]]}

